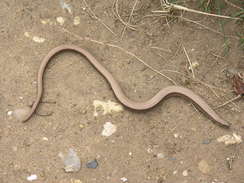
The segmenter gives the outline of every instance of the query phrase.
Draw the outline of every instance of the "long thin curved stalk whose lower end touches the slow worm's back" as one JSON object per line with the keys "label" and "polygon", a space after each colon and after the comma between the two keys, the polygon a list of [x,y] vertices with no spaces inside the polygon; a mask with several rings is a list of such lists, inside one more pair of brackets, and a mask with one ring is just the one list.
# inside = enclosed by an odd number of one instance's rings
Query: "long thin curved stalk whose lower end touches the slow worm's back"
{"label": "long thin curved stalk whose lower end touches the slow worm's back", "polygon": [[77,39],[80,39],[82,41],[90,41],[90,42],[93,42],[93,43],[97,43],[97,44],[100,44],[100,45],[104,45],[104,46],[110,46],[110,47],[113,47],[113,48],[117,48],[123,52],[125,52],[126,54],[136,58],[139,62],[141,62],[143,65],[145,65],[146,67],[148,67],[150,70],[156,72],[157,74],[165,77],[166,79],[168,79],[169,81],[171,81],[174,85],[177,85],[177,83],[172,79],[170,78],[169,76],[161,73],[160,71],[158,71],[157,69],[154,69],[152,66],[150,66],[149,64],[147,64],[145,61],[143,61],[141,58],[139,58],[138,56],[136,56],[134,53],[131,53],[127,50],[125,50],[124,48],[120,47],[120,46],[117,46],[117,45],[114,45],[114,44],[110,44],[110,43],[104,43],[104,42],[101,42],[101,41],[97,41],[97,40],[94,40],[94,39],[91,39],[89,37],[81,37],[73,32],[70,32],[69,30],[65,29],[65,28],[62,28],[61,29],[63,32],[66,32],[74,37],[76,37]]}

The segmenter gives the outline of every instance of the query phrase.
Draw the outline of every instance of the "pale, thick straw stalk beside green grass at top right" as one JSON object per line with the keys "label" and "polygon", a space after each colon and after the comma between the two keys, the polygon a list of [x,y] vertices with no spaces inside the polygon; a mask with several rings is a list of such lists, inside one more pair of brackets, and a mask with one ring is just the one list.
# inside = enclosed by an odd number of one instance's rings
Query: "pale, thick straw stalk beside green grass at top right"
{"label": "pale, thick straw stalk beside green grass at top right", "polygon": [[178,9],[178,10],[183,10],[191,13],[197,13],[197,14],[202,14],[202,15],[207,15],[207,16],[213,16],[213,17],[218,17],[218,18],[226,18],[226,19],[233,19],[233,20],[240,20],[240,18],[235,18],[235,17],[230,17],[230,16],[225,16],[225,15],[217,15],[217,14],[212,14],[212,13],[206,13],[198,10],[193,10],[190,8],[186,8],[184,6],[176,5],[173,3],[169,3],[167,0],[163,0],[165,2],[165,6],[167,8],[173,8],[173,9]]}

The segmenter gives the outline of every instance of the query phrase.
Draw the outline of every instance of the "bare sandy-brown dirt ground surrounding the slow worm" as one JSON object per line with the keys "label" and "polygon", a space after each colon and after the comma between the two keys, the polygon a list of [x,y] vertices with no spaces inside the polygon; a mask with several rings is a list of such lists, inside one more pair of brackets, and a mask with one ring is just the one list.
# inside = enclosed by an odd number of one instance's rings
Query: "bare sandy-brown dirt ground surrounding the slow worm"
{"label": "bare sandy-brown dirt ground surrounding the slow worm", "polygon": [[[166,19],[162,13],[152,13],[160,10],[159,1],[138,1],[133,9],[135,1],[124,0],[118,1],[119,15],[136,25],[136,30],[124,30],[114,14],[113,0],[65,3],[70,5],[70,12],[62,9],[58,0],[0,2],[0,182],[27,182],[28,176],[36,174],[37,183],[115,183],[122,182],[122,177],[130,183],[243,183],[243,143],[225,146],[216,141],[233,132],[243,136],[243,100],[216,110],[232,123],[231,129],[213,124],[189,101],[175,97],[141,113],[124,108],[123,112],[94,117],[94,100],[119,101],[83,57],[64,52],[53,58],[45,75],[42,101],[53,103],[42,103],[37,111],[52,115],[34,115],[25,124],[7,115],[35,100],[41,60],[50,49],[64,43],[89,50],[126,94],[138,101],[173,83],[128,51],[178,85],[201,95],[212,107],[235,97],[224,71],[243,69],[243,50],[237,36],[243,25],[183,14],[208,30],[186,19]],[[194,1],[183,5],[198,9]],[[234,10],[228,7],[223,14]],[[74,25],[77,16],[80,23]],[[57,17],[64,18],[63,25]],[[223,30],[220,21],[224,22]],[[184,48],[196,65],[195,79]],[[109,137],[101,135],[106,122],[117,126]],[[81,159],[79,172],[63,170],[58,154],[69,148]],[[230,169],[227,158],[231,157]],[[99,166],[86,168],[86,162],[95,158]],[[201,161],[205,169],[199,165]]]}

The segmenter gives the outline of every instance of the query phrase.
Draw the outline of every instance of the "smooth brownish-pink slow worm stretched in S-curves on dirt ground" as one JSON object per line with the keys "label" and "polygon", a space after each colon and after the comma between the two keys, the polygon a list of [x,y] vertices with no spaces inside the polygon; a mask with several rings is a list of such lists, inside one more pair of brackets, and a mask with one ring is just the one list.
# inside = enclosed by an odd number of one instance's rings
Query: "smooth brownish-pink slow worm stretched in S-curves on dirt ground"
{"label": "smooth brownish-pink slow worm stretched in S-curves on dirt ground", "polygon": [[23,122],[26,122],[30,117],[34,114],[36,111],[36,108],[38,107],[40,100],[42,98],[43,94],[43,75],[46,69],[47,64],[51,60],[51,58],[56,55],[57,53],[60,53],[65,50],[71,50],[80,53],[84,57],[87,58],[87,60],[97,69],[98,72],[101,73],[101,75],[106,78],[108,83],[113,89],[113,92],[117,99],[126,107],[134,109],[134,110],[146,110],[154,107],[157,105],[161,100],[165,99],[169,96],[180,96],[189,99],[191,102],[193,102],[198,109],[200,109],[202,112],[204,112],[210,119],[212,119],[213,122],[216,122],[220,126],[223,127],[230,127],[230,123],[227,121],[221,119],[215,111],[198,95],[193,93],[191,90],[180,87],[180,86],[168,86],[162,90],[160,90],[156,95],[154,95],[151,99],[145,101],[145,102],[136,102],[131,99],[129,99],[119,86],[118,82],[114,79],[112,74],[108,72],[108,70],[101,65],[88,51],[79,48],[74,45],[61,45],[54,49],[52,49],[42,60],[40,69],[38,71],[38,78],[37,78],[37,97],[35,102],[33,103],[30,111],[25,116],[25,118],[22,120]]}

